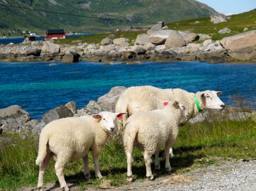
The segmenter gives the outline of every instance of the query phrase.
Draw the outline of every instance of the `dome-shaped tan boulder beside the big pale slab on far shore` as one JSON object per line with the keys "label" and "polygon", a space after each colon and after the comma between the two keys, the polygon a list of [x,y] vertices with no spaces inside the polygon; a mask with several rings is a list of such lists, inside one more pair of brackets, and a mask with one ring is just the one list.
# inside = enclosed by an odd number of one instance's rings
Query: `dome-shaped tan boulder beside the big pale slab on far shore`
{"label": "dome-shaped tan boulder beside the big pale slab on far shore", "polygon": [[171,49],[173,47],[181,47],[186,45],[186,41],[184,38],[179,34],[178,31],[173,32],[169,35],[164,43],[167,49]]}

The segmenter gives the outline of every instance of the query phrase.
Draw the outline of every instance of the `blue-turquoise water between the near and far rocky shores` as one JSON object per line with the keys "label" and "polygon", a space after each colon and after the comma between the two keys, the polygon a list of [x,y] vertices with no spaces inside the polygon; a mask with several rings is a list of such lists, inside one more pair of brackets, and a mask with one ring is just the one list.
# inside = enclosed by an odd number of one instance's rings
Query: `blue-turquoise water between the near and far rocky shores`
{"label": "blue-turquoise water between the near and far rocky shores", "polygon": [[84,108],[111,87],[143,85],[189,92],[223,91],[220,99],[228,105],[232,105],[231,97],[241,94],[255,106],[255,74],[256,64],[0,62],[0,109],[17,104],[33,119],[41,119],[45,112],[70,101],[75,101],[78,109]]}

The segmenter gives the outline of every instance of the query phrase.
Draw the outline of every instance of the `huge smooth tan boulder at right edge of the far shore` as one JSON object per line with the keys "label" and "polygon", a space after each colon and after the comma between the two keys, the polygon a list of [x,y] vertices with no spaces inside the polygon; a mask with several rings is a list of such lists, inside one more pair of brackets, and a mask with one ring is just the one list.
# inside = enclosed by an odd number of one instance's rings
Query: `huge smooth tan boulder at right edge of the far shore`
{"label": "huge smooth tan boulder at right edge of the far shore", "polygon": [[256,60],[256,30],[225,37],[220,44],[235,60]]}

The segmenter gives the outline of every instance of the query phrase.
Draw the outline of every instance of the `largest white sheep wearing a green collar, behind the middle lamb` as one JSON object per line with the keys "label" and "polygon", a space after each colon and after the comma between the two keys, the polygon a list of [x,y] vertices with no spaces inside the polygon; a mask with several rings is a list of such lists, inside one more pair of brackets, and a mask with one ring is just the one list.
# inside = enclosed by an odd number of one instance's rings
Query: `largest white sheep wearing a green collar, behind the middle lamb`
{"label": "largest white sheep wearing a green collar, behind the middle lamb", "polygon": [[[120,95],[116,103],[116,112],[128,112],[128,115],[118,122],[117,133],[122,134],[123,124],[127,117],[134,114],[134,112],[163,108],[159,100],[177,100],[183,103],[189,112],[189,116],[183,119],[183,123],[195,117],[198,112],[205,108],[223,110],[225,104],[218,97],[221,93],[220,91],[209,90],[191,93],[180,88],[161,89],[153,86],[129,87]],[[170,148],[170,156],[173,157],[172,148]]]}

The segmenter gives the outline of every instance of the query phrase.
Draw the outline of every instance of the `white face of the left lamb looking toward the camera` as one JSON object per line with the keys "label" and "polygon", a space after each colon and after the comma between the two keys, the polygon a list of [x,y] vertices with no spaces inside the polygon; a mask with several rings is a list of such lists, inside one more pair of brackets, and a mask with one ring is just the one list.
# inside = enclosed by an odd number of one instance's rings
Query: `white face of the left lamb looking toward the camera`
{"label": "white face of the left lamb looking toward the camera", "polygon": [[116,118],[121,119],[123,116],[125,116],[127,112],[122,113],[112,113],[103,111],[99,114],[92,115],[95,120],[99,120],[100,127],[105,128],[109,132],[113,132],[116,127]]}

